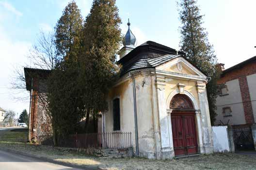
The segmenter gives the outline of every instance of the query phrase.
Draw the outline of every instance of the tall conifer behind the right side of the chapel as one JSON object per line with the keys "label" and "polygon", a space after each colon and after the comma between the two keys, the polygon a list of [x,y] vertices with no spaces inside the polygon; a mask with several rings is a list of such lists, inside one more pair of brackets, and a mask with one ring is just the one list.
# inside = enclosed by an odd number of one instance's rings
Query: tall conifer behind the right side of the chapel
{"label": "tall conifer behind the right side of the chapel", "polygon": [[179,3],[179,16],[182,24],[180,47],[194,65],[211,77],[211,81],[207,84],[207,93],[213,124],[216,116],[216,97],[219,93],[217,85],[219,71],[216,69],[217,57],[213,46],[208,42],[208,33],[202,27],[203,15],[200,14],[196,2],[196,0],[181,0]]}

